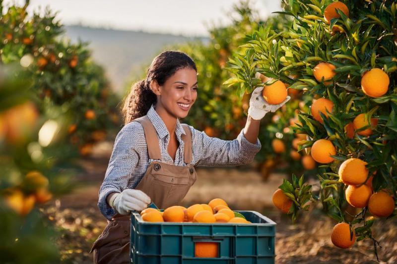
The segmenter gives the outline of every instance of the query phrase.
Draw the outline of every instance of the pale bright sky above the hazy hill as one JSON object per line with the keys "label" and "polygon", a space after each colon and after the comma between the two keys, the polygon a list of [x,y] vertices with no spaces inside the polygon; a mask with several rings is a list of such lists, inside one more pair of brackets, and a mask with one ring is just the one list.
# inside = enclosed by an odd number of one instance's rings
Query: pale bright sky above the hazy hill
{"label": "pale bright sky above the hazy hill", "polygon": [[[4,0],[4,5],[25,0]],[[65,25],[207,36],[206,24],[227,25],[239,0],[30,0],[29,10],[59,11]],[[280,0],[251,0],[261,18],[280,11]]]}

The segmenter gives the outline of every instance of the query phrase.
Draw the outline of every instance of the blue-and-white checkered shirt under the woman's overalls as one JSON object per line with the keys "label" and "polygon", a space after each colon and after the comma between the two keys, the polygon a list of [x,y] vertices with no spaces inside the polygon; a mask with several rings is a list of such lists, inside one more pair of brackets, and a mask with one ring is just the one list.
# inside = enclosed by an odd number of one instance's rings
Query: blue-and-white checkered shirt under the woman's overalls
{"label": "blue-and-white checkered shirt under the woman's overalls", "polygon": [[[185,166],[184,142],[181,134],[185,134],[181,123],[177,119],[175,134],[179,141],[175,160],[167,152],[170,139],[169,132],[161,117],[153,106],[147,112],[153,123],[160,142],[162,162],[176,166]],[[233,166],[251,162],[261,149],[261,143],[249,142],[241,130],[237,139],[227,141],[207,136],[204,132],[189,126],[192,132],[193,158],[191,164],[198,166]],[[139,122],[125,125],[116,137],[112,156],[106,170],[105,179],[99,190],[98,207],[102,214],[111,219],[116,213],[106,202],[110,193],[122,192],[138,185],[149,164],[154,161],[148,157],[145,134]]]}

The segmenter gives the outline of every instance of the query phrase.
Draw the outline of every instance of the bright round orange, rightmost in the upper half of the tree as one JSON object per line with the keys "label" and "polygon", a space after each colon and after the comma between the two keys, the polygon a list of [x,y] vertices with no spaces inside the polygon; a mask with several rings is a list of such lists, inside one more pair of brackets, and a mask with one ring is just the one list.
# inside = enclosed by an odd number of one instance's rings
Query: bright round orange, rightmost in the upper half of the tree
{"label": "bright round orange, rightmost in the upper half of the tree", "polygon": [[389,84],[389,75],[379,68],[367,71],[361,78],[361,88],[364,94],[370,97],[385,95],[388,92]]}

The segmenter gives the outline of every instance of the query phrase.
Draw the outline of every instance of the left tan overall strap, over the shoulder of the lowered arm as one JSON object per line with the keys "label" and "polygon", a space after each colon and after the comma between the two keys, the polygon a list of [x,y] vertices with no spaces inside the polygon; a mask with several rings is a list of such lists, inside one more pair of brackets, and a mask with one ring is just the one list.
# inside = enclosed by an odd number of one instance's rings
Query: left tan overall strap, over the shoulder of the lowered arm
{"label": "left tan overall strap, over the shoulder of the lowered arm", "polygon": [[142,117],[135,118],[132,121],[137,121],[143,126],[149,158],[161,160],[160,143],[157,137],[157,132],[149,117],[144,115]]}

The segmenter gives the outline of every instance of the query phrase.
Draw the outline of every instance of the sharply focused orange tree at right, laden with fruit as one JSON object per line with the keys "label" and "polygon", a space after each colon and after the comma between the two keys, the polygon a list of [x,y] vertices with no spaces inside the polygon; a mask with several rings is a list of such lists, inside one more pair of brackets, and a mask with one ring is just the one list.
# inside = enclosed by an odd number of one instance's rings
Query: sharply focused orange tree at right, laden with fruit
{"label": "sharply focused orange tree at right, laden with fruit", "polygon": [[283,7],[291,27],[254,32],[245,53],[230,60],[233,83],[250,93],[263,85],[259,71],[313,98],[291,128],[308,136],[299,150],[321,163],[321,189],[312,193],[303,177],[284,180],[280,189],[293,201],[288,212],[296,219],[310,200],[321,201],[344,223],[333,229],[336,246],[369,238],[376,253],[372,216],[396,215],[396,3],[290,0]]}

